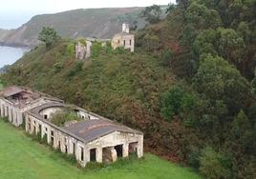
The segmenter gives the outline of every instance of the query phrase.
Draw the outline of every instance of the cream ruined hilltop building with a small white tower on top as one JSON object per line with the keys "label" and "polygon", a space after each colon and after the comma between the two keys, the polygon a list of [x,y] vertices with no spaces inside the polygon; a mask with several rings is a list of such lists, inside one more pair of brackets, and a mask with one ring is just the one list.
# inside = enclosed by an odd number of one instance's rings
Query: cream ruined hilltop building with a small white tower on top
{"label": "cream ruined hilltop building with a small white tower on top", "polygon": [[126,50],[134,52],[135,50],[135,35],[130,33],[129,24],[122,24],[122,32],[117,33],[111,42],[114,50],[118,47],[123,47]]}

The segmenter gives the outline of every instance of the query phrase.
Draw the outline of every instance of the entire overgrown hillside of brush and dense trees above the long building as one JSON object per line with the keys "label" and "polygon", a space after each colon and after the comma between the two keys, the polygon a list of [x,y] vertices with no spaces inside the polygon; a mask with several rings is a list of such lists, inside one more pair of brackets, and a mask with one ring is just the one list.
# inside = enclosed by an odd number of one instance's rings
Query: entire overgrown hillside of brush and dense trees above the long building
{"label": "entire overgrown hillside of brush and dense trees above the long building", "polygon": [[137,32],[134,54],[97,49],[81,62],[61,42],[2,79],[141,129],[146,149],[206,178],[255,178],[256,2],[177,2]]}

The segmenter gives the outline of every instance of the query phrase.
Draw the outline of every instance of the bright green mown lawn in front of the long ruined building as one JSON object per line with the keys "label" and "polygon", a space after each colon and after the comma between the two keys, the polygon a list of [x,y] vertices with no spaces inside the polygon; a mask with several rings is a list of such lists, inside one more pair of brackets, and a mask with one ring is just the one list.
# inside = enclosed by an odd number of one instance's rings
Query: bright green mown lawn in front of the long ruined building
{"label": "bright green mown lawn in front of the long ruined building", "polygon": [[146,153],[103,169],[78,169],[53,150],[32,141],[23,130],[0,120],[1,179],[198,179],[197,173]]}

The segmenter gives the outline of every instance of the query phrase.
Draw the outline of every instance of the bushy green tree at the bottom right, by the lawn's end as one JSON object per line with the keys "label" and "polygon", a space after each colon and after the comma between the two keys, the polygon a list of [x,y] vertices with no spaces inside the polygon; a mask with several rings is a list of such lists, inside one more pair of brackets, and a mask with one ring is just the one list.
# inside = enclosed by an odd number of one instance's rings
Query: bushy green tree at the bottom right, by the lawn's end
{"label": "bushy green tree at the bottom right, by the lawn's end", "polygon": [[210,147],[202,151],[199,170],[208,179],[232,178],[231,161],[223,153]]}

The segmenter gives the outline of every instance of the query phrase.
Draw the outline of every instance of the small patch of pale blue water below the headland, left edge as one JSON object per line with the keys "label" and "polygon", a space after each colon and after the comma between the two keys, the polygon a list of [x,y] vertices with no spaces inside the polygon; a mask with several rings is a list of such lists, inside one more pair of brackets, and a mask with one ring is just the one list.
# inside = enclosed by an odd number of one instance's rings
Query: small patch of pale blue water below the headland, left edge
{"label": "small patch of pale blue water below the headland, left edge", "polygon": [[28,51],[22,48],[11,48],[0,46],[0,69],[6,65],[15,63],[23,54]]}

